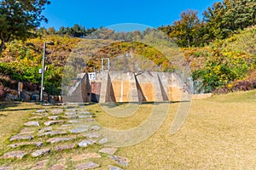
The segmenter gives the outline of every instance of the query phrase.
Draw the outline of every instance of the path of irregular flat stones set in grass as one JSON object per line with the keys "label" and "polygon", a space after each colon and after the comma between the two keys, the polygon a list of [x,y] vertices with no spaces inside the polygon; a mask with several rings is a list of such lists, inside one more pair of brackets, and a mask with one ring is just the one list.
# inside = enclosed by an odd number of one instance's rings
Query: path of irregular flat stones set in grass
{"label": "path of irregular flat stones set in grass", "polygon": [[[20,133],[10,137],[6,150],[0,156],[0,162],[4,162],[0,164],[0,170],[125,168],[129,160],[116,156],[116,148],[104,146],[108,139],[97,133],[99,129],[95,115],[84,107],[35,111],[20,128]],[[71,159],[50,159],[51,155],[61,153],[67,157],[72,153]],[[104,167],[101,159],[112,163]],[[22,160],[28,165],[15,167]]]}

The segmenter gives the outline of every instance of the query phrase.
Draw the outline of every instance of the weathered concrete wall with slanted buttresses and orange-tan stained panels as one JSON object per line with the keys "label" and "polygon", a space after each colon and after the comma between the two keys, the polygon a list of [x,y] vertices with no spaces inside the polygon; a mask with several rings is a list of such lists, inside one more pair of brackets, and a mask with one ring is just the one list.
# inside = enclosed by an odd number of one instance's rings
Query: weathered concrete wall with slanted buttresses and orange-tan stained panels
{"label": "weathered concrete wall with slanted buttresses and orange-tan stained panels", "polygon": [[168,72],[102,71],[96,80],[79,74],[79,82],[68,93],[69,102],[147,102],[180,101],[185,84]]}

